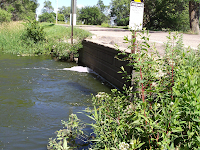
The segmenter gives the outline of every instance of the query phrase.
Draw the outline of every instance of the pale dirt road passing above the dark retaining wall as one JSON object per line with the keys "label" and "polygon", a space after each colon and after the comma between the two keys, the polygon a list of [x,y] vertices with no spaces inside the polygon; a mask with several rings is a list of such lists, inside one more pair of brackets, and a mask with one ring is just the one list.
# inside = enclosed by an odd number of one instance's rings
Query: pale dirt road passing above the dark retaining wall
{"label": "pale dirt road passing above the dark retaining wall", "polygon": [[[131,39],[131,32],[129,30],[118,29],[118,28],[103,28],[97,26],[76,26],[81,29],[90,31],[93,36],[90,39],[93,42],[104,44],[108,46],[115,46],[117,44],[120,48],[127,48],[129,44],[124,43],[124,36],[128,36]],[[156,45],[156,49],[160,54],[164,53],[164,43],[167,42],[168,32],[161,31],[150,31],[150,43]],[[140,40],[137,38],[137,40]],[[193,49],[197,49],[200,44],[200,35],[183,34],[183,43],[185,47],[190,46]]]}

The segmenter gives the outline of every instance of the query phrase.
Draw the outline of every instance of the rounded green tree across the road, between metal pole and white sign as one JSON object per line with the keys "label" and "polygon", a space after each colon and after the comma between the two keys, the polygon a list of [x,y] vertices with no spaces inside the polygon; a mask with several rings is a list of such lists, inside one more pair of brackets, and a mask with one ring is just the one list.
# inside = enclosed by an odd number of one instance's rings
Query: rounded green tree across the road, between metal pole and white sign
{"label": "rounded green tree across the road, between metal pole and white sign", "polygon": [[101,25],[103,22],[103,19],[101,18],[101,11],[96,6],[87,6],[82,8],[78,19],[84,21],[87,25]]}

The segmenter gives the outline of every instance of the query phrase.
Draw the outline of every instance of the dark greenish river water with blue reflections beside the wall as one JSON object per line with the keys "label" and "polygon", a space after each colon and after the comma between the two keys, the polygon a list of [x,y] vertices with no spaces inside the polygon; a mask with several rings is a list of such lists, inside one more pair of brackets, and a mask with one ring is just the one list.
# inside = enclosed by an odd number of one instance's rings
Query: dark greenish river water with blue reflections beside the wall
{"label": "dark greenish river water with blue reflections beside the wall", "polygon": [[48,57],[0,54],[0,149],[45,150],[61,120],[92,107],[91,94],[110,91],[97,75],[66,69],[74,66]]}

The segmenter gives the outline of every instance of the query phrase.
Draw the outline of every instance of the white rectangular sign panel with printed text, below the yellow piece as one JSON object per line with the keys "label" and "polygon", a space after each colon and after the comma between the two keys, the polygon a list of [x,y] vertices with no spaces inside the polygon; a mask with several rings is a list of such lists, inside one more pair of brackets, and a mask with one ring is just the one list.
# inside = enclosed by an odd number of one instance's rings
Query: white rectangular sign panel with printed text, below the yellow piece
{"label": "white rectangular sign panel with printed text, below the yellow piece", "polygon": [[142,30],[144,3],[132,1],[130,7],[129,28],[131,30]]}

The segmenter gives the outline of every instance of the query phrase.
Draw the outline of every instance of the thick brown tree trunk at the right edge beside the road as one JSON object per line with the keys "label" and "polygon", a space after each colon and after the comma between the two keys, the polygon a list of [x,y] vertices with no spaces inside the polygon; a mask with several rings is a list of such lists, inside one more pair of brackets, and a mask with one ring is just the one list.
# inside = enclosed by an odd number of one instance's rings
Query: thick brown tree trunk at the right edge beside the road
{"label": "thick brown tree trunk at the right edge beside the road", "polygon": [[199,34],[199,2],[197,0],[189,1],[190,29],[196,34]]}

